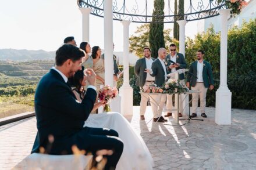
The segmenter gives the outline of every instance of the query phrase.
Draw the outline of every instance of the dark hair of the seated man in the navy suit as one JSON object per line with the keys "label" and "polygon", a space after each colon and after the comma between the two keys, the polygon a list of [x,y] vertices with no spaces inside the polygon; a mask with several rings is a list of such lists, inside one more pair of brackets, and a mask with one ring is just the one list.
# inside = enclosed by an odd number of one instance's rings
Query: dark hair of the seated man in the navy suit
{"label": "dark hair of the seated man in the navy suit", "polygon": [[84,56],[84,52],[71,44],[64,44],[56,51],[55,63],[56,66],[62,66],[66,60],[70,59],[73,62],[80,60]]}

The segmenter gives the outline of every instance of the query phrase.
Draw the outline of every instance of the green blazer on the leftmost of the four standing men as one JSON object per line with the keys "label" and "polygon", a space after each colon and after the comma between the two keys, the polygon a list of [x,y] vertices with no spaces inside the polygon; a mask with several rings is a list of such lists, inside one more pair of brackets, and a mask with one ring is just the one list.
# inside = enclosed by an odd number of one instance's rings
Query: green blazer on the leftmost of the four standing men
{"label": "green blazer on the leftmost of the four standing men", "polygon": [[[154,58],[151,57],[153,61]],[[147,78],[147,73],[145,73],[145,68],[147,68],[145,57],[138,59],[134,66],[134,74],[137,76],[136,85],[143,87]]]}

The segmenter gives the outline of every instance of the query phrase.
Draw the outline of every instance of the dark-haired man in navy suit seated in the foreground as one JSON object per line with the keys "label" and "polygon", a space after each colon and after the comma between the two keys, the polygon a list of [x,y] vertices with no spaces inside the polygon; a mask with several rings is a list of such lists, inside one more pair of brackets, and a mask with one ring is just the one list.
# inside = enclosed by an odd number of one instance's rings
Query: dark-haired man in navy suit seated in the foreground
{"label": "dark-haired man in navy suit seated in the foreground", "polygon": [[89,82],[81,103],[71,91],[67,79],[81,70],[83,51],[65,44],[56,51],[56,66],[42,77],[35,92],[35,115],[37,136],[31,153],[73,154],[74,149],[92,153],[98,150],[112,150],[105,155],[105,169],[115,169],[123,152],[123,142],[118,133],[111,129],[83,127],[97,98],[95,73],[87,69]]}

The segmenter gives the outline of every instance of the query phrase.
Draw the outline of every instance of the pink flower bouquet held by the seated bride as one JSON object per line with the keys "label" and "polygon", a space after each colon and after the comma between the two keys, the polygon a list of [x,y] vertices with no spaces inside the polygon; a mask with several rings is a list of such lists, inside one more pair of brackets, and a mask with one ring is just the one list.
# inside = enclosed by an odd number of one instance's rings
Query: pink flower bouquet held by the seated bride
{"label": "pink flower bouquet held by the seated bride", "polygon": [[105,102],[103,112],[111,111],[109,103],[111,99],[115,98],[118,95],[118,89],[116,87],[111,87],[109,85],[102,86],[98,89],[98,99],[100,102]]}

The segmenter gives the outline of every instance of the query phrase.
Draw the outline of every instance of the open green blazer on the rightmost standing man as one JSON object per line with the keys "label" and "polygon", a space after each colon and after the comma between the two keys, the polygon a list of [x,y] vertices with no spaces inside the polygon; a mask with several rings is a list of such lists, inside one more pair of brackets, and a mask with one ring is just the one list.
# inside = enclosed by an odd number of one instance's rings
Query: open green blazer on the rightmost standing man
{"label": "open green blazer on the rightmost standing man", "polygon": [[[193,62],[189,68],[189,72],[197,75],[197,61]],[[205,88],[208,88],[210,85],[214,85],[214,78],[212,76],[212,66],[210,63],[205,62],[202,68],[202,79],[204,80]],[[190,82],[190,86],[195,86],[197,84],[197,78],[193,75],[187,74],[187,82]]]}

